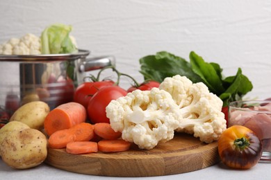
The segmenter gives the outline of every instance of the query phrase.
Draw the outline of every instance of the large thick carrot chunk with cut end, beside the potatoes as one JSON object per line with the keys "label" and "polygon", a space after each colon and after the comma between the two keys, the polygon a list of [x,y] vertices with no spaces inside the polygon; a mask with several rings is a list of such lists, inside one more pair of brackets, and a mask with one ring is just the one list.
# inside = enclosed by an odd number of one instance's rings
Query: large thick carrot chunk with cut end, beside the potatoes
{"label": "large thick carrot chunk with cut end, beside the potatoes", "polygon": [[61,129],[85,122],[85,107],[77,102],[67,102],[51,110],[44,120],[44,130],[49,136]]}

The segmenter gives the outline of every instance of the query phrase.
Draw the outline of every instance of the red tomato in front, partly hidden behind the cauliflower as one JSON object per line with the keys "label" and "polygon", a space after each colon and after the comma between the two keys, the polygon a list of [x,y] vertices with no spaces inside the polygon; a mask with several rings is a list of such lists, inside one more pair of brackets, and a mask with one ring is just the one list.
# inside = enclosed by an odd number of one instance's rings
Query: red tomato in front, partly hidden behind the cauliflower
{"label": "red tomato in front, partly hidden behind the cauliflower", "polygon": [[106,106],[111,100],[126,96],[127,91],[117,86],[104,87],[88,102],[88,118],[92,123],[110,123],[106,117]]}

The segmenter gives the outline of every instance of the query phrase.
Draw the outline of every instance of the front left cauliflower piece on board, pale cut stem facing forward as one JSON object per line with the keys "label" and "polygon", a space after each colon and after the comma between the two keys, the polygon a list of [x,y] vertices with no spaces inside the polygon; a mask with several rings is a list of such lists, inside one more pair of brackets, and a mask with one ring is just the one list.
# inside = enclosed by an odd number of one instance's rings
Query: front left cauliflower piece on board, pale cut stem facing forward
{"label": "front left cauliflower piece on board, pale cut stem facing forward", "polygon": [[181,119],[170,93],[158,88],[136,90],[112,100],[106,107],[106,116],[125,141],[146,150],[172,139]]}

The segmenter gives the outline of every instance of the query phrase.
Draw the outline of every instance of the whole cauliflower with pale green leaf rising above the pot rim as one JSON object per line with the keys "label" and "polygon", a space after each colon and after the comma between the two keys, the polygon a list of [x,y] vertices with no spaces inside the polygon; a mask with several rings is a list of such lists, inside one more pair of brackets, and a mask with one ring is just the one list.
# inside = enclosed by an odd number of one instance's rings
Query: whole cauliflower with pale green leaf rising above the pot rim
{"label": "whole cauliflower with pale green leaf rising above the pot rim", "polygon": [[0,44],[0,55],[41,55],[77,53],[76,39],[69,35],[72,26],[51,24],[41,37],[27,33],[21,38],[10,38]]}

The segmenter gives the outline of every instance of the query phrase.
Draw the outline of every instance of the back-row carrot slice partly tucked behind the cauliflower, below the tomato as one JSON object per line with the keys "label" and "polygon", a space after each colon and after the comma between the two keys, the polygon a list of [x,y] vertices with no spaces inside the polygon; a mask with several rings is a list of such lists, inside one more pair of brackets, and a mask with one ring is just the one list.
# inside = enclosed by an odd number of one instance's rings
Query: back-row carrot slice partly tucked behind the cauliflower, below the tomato
{"label": "back-row carrot slice partly tucked behind the cauliflower, below the tomato", "polygon": [[113,140],[122,136],[121,132],[115,132],[109,123],[96,123],[94,125],[94,132],[104,139]]}

